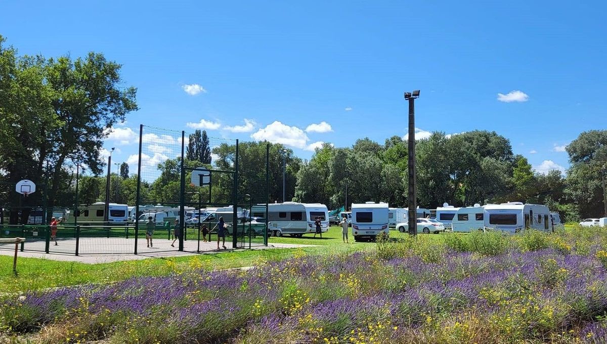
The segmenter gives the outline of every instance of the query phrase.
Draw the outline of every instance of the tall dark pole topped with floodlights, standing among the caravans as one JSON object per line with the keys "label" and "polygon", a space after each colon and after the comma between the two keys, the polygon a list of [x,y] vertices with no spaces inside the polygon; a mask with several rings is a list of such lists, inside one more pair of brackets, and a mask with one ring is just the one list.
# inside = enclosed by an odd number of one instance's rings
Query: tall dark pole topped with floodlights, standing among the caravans
{"label": "tall dark pole topped with floodlights, standing among the caravans", "polygon": [[417,201],[415,192],[415,99],[419,97],[419,90],[405,92],[405,99],[409,101],[409,235],[417,236]]}

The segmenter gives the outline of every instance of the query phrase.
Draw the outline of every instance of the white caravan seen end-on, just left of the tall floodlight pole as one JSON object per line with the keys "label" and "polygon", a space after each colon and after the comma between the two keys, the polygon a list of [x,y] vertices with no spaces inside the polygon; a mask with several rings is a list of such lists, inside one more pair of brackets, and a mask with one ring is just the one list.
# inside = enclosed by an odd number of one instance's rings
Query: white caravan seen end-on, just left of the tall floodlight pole
{"label": "white caravan seen end-on, just left of the tall floodlight pole", "polygon": [[389,234],[387,203],[352,203],[351,210],[354,241],[373,240],[381,233]]}

